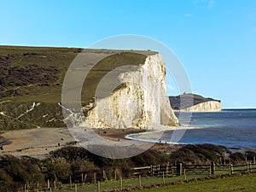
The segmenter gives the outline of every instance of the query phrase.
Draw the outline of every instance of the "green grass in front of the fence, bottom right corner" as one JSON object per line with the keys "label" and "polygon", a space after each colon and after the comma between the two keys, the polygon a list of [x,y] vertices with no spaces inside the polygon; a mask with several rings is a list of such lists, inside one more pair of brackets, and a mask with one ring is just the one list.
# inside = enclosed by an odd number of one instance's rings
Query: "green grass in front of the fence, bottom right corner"
{"label": "green grass in front of the fence, bottom right corner", "polygon": [[185,183],[178,185],[164,186],[154,189],[143,189],[137,191],[143,192],[167,192],[167,191],[182,191],[182,192],[208,192],[208,191],[255,191],[256,189],[256,174],[244,175],[241,177],[224,177],[211,179],[207,181]]}

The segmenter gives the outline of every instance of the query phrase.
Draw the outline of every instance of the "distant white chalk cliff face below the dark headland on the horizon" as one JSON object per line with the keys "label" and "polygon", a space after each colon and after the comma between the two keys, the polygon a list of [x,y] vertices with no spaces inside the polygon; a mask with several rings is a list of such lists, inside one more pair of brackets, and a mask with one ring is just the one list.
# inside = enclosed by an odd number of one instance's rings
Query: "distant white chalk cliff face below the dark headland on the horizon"
{"label": "distant white chalk cliff face below the dark headland on the horizon", "polygon": [[189,108],[182,108],[180,112],[218,112],[221,111],[221,102],[209,101],[201,102]]}

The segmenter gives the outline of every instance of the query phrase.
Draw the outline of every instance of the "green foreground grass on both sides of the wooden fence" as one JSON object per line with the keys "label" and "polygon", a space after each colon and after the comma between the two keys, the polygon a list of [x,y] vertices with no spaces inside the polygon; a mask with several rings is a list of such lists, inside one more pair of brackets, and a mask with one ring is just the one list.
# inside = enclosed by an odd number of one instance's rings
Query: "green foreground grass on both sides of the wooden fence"
{"label": "green foreground grass on both sides of the wooden fence", "polygon": [[[198,176],[199,177],[199,176]],[[180,182],[178,182],[180,181]],[[242,175],[242,176],[234,176],[234,177],[223,177],[223,178],[213,178],[206,179],[204,181],[196,181],[196,182],[183,182],[183,177],[172,177],[167,178],[166,183],[177,182],[177,184],[167,184],[165,186],[159,186],[157,184],[162,184],[163,180],[160,177],[148,177],[142,178],[141,183],[138,178],[132,179],[124,179],[122,183],[123,189],[127,191],[127,189],[136,189],[132,191],[142,191],[142,192],[209,192],[209,191],[247,191],[253,192],[256,188],[256,174],[252,175]],[[154,187],[150,189],[138,189],[139,186],[145,186],[148,188],[149,186],[154,185]],[[90,185],[78,185],[75,188],[73,184],[72,188],[70,186],[66,186],[66,189],[61,189],[64,192],[72,192],[75,191],[99,191],[98,183],[90,184]],[[58,191],[59,189],[52,189],[52,191]],[[113,191],[120,190],[120,180],[119,181],[109,181],[100,183],[100,191]]]}

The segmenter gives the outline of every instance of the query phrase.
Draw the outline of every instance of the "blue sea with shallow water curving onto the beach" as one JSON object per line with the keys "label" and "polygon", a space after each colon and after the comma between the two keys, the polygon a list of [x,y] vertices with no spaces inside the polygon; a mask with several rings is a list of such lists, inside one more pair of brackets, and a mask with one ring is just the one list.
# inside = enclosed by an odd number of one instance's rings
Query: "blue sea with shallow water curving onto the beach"
{"label": "blue sea with shallow water curving onto the beach", "polygon": [[[179,117],[179,113],[176,113]],[[223,109],[221,112],[192,113],[189,124],[181,125],[180,134],[165,131],[155,143],[222,145],[233,151],[251,150],[256,152],[256,109]],[[179,135],[172,141],[173,135]],[[154,134],[156,135],[156,134]],[[146,136],[146,134],[145,134]],[[136,140],[147,141],[147,137],[135,134]],[[148,141],[153,142],[154,137]]]}

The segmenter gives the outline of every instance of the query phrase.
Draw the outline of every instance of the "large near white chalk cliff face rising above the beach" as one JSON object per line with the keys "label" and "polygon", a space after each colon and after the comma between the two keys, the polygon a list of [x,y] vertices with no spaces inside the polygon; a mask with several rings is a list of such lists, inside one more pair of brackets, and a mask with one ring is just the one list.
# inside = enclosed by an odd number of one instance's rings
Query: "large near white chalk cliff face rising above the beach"
{"label": "large near white chalk cliff face rising above the beach", "polygon": [[148,55],[136,70],[119,73],[122,86],[96,99],[86,122],[93,128],[157,129],[177,125],[166,94],[166,68],[160,54]]}

